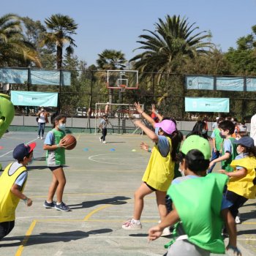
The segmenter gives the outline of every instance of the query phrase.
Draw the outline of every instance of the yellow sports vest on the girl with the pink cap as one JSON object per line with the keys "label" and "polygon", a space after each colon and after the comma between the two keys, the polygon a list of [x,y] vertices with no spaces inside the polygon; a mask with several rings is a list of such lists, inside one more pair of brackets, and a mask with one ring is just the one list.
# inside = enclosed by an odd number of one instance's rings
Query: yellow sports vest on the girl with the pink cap
{"label": "yellow sports vest on the girl with the pink cap", "polygon": [[172,141],[170,138],[166,138],[170,145],[170,152],[167,154],[167,157],[162,157],[158,146],[155,145],[142,178],[146,184],[159,191],[167,191],[174,177],[175,163],[170,155],[173,150]]}

